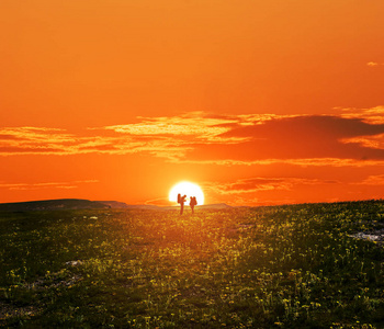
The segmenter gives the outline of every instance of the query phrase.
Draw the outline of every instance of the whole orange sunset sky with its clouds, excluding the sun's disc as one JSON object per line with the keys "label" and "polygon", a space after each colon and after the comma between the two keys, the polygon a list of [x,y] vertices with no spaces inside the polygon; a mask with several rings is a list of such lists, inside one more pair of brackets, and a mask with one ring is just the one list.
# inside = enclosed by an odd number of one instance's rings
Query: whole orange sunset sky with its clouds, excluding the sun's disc
{"label": "whole orange sunset sky with its clouds, excluding the sun's disc", "polygon": [[0,202],[384,197],[384,1],[2,0]]}

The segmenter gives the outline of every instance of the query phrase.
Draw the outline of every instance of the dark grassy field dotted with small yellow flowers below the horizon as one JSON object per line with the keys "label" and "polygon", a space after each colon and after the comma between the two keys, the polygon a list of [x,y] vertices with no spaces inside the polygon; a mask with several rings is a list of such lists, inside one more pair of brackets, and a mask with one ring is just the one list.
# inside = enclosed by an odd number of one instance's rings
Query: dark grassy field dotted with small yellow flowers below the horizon
{"label": "dark grassy field dotted with small yellow flowers below the horizon", "polygon": [[0,326],[384,328],[384,202],[0,214]]}

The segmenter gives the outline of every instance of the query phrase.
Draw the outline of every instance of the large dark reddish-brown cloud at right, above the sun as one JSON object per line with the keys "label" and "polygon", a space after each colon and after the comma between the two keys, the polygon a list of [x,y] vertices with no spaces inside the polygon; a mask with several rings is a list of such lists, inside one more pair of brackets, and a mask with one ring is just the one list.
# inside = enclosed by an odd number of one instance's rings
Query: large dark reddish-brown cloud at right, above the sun
{"label": "large dark reddish-brown cloud at right, above the sun", "polygon": [[[216,160],[253,163],[302,159],[384,160],[384,150],[363,145],[346,144],[346,138],[375,136],[384,133],[384,125],[372,125],[360,120],[336,116],[300,116],[279,118],[262,125],[236,127],[227,137],[246,137],[237,145],[199,145],[191,160]],[[309,164],[309,163],[308,163]]]}

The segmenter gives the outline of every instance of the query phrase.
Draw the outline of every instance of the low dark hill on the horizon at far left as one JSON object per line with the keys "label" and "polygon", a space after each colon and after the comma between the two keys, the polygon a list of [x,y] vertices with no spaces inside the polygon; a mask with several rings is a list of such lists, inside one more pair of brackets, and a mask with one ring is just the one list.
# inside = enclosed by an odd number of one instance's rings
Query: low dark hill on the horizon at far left
{"label": "low dark hill on the horizon at far left", "polygon": [[42,200],[30,202],[0,203],[0,212],[33,212],[58,209],[99,209],[108,205],[81,198]]}

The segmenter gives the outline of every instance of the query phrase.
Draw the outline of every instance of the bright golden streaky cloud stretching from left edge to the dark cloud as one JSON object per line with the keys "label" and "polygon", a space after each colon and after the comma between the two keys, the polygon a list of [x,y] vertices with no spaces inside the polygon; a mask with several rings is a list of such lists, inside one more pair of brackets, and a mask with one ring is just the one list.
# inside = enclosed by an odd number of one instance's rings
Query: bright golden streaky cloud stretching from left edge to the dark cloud
{"label": "bright golden streaky cloud stretching from left edge to the dark cloud", "polygon": [[[192,112],[172,117],[138,117],[139,123],[89,127],[88,136],[44,127],[0,128],[0,155],[126,155],[146,152],[180,159],[193,145],[238,144],[248,137],[224,137],[234,126],[262,124],[279,117],[258,115],[206,115]],[[285,117],[285,116],[284,116]]]}

